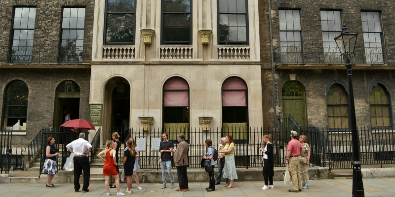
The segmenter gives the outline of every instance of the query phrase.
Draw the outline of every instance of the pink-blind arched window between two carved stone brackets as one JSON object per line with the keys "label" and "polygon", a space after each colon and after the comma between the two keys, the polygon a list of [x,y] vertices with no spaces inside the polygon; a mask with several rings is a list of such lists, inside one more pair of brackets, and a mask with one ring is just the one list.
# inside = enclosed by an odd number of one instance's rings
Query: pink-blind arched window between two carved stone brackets
{"label": "pink-blind arched window between two carved stone brackets", "polygon": [[177,133],[189,139],[189,86],[181,77],[172,77],[163,85],[163,131],[169,139],[177,139]]}

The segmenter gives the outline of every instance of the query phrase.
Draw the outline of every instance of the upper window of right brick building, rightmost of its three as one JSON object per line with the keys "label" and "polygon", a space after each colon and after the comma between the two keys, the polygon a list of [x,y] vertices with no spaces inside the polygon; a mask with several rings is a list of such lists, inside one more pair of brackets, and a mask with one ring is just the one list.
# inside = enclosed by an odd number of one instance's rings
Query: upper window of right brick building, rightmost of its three
{"label": "upper window of right brick building, rightmost of its three", "polygon": [[384,63],[383,31],[379,12],[361,12],[366,63]]}

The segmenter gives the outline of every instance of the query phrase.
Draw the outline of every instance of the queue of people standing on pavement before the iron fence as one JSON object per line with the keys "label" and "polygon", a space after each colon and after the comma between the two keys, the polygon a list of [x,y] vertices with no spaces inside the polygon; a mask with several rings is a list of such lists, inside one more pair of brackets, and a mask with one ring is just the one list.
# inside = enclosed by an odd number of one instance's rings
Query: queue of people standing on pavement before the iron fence
{"label": "queue of people standing on pavement before the iron fence", "polygon": [[[166,188],[166,169],[170,177],[171,188],[175,188],[173,173],[171,171],[171,154],[174,154],[174,164],[177,168],[177,177],[179,189],[176,192],[189,191],[187,167],[189,165],[189,144],[185,141],[185,135],[179,133],[177,135],[178,146],[174,147],[173,142],[168,139],[168,134],[162,133],[163,141],[159,144],[159,164],[161,164],[162,172],[162,187]],[[309,189],[309,175],[308,166],[310,164],[310,146],[307,143],[308,138],[306,135],[300,135],[297,140],[298,133],[290,131],[291,140],[287,144],[285,163],[289,165],[289,172],[292,179],[292,189],[289,192],[300,192],[303,189]],[[138,164],[138,157],[140,149],[137,147],[135,140],[130,137],[126,141],[123,158],[123,170],[126,178],[127,189],[125,193],[120,192],[119,188],[119,168],[118,168],[118,150],[120,147],[119,134],[114,132],[112,134],[113,140],[107,140],[105,149],[100,152],[97,157],[105,162],[103,167],[103,175],[105,176],[105,186],[107,196],[110,196],[110,188],[117,188],[117,196],[124,196],[131,194],[132,189],[132,176],[134,177],[137,188],[142,190],[137,171],[140,169]],[[260,148],[263,153],[263,169],[262,174],[264,177],[264,186],[262,190],[274,189],[273,176],[274,176],[274,147],[271,142],[272,135],[263,135],[264,147]],[[57,174],[57,156],[59,151],[54,146],[55,138],[50,136],[47,139],[47,146],[45,149],[45,161],[42,169],[43,174],[47,174],[46,187],[55,187],[52,179]],[[227,189],[234,187],[234,180],[237,179],[237,171],[235,164],[235,142],[231,134],[222,137],[218,147],[218,174],[214,175],[214,147],[211,139],[205,140],[207,149],[206,154],[202,157],[204,160],[209,160],[211,164],[211,171],[208,171],[209,186],[207,192],[215,191],[215,185],[221,183],[221,179],[225,178]],[[89,177],[90,177],[90,164],[88,155],[92,149],[92,145],[85,140],[85,133],[79,133],[79,138],[67,144],[66,148],[69,152],[74,153],[74,189],[79,192],[80,183],[79,176],[83,171],[83,186],[82,192],[88,192]],[[105,155],[105,159],[103,159]],[[114,186],[109,184],[110,177],[113,177],[115,182]]]}

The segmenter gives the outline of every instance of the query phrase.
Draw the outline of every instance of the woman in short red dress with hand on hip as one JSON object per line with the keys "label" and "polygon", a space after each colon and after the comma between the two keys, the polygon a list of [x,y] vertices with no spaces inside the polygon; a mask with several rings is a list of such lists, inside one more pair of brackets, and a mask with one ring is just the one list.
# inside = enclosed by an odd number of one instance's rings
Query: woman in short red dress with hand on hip
{"label": "woman in short red dress with hand on hip", "polygon": [[[113,140],[107,140],[106,142],[106,148],[97,154],[97,157],[100,158],[101,160],[104,161],[104,166],[103,166],[103,175],[106,178],[105,181],[105,186],[107,190],[107,196],[110,196],[110,176],[114,177],[115,180],[115,186],[117,187],[117,196],[125,196],[124,193],[119,191],[119,176],[117,172],[117,159],[116,159],[116,150],[114,148],[114,141]],[[105,155],[106,159],[103,159],[101,155]]]}

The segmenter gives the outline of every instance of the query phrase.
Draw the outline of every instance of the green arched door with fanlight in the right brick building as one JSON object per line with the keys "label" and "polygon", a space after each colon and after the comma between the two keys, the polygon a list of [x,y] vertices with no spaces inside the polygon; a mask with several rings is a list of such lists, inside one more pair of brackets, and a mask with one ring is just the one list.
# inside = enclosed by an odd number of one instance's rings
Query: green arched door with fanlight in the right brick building
{"label": "green arched door with fanlight in the right brick building", "polygon": [[299,126],[306,126],[305,94],[301,85],[287,82],[282,88],[282,113],[291,115]]}

